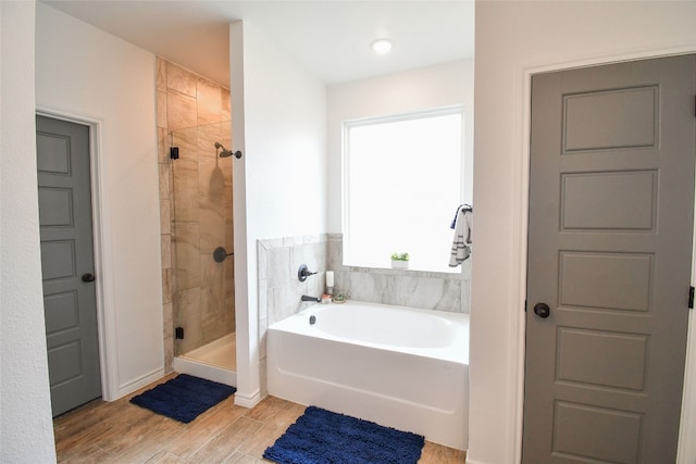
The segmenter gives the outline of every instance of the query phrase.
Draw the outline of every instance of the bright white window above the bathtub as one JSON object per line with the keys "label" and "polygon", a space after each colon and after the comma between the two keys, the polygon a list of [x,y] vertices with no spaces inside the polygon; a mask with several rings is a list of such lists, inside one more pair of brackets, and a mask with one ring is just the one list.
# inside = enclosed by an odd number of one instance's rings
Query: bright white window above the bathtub
{"label": "bright white window above the bathtub", "polygon": [[463,108],[344,124],[344,264],[409,268],[448,266],[462,203]]}

